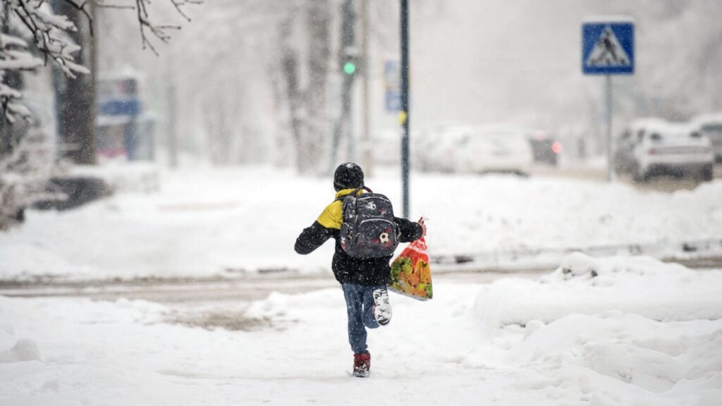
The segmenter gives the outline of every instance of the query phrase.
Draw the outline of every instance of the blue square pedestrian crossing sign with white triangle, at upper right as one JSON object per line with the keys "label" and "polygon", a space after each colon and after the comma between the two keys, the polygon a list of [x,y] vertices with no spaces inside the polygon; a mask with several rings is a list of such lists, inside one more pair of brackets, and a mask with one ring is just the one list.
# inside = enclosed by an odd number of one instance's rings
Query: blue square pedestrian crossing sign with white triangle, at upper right
{"label": "blue square pedestrian crossing sign with white triangle, at upper right", "polygon": [[634,73],[634,23],[593,21],[582,24],[584,74]]}

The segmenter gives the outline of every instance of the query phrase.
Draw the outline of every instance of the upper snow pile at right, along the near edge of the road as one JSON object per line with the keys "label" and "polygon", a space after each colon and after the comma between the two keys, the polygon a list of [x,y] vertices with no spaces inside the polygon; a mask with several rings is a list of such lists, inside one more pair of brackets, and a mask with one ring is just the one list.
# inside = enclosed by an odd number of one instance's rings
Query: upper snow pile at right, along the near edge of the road
{"label": "upper snow pile at right, along the near edge of the road", "polygon": [[722,272],[694,272],[649,257],[571,254],[540,280],[508,278],[484,287],[477,314],[490,327],[569,314],[623,311],[659,321],[721,319]]}

